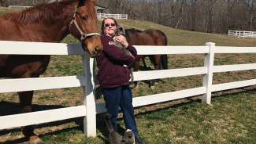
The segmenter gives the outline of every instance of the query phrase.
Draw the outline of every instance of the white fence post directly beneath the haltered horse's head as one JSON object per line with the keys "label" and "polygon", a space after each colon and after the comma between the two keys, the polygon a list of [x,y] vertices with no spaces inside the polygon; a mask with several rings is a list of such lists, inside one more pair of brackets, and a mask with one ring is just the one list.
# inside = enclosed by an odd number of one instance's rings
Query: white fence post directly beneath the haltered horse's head
{"label": "white fence post directly beneath the haltered horse's head", "polygon": [[86,106],[86,116],[83,119],[84,135],[96,136],[96,106],[95,106],[95,59],[87,52],[83,55],[83,105]]}

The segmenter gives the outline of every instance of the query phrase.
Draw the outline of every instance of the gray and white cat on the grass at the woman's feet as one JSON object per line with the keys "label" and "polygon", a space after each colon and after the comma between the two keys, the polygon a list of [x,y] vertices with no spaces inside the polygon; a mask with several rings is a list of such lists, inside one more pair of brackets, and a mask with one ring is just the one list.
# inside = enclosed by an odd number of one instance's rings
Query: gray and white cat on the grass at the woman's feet
{"label": "gray and white cat on the grass at the woman's feet", "polygon": [[109,121],[111,114],[106,113],[104,119],[106,121],[106,127],[109,130],[109,143],[110,144],[135,144],[135,137],[132,133],[132,130],[127,130],[124,133],[124,139],[122,140],[120,135],[116,131],[113,131],[112,124]]}

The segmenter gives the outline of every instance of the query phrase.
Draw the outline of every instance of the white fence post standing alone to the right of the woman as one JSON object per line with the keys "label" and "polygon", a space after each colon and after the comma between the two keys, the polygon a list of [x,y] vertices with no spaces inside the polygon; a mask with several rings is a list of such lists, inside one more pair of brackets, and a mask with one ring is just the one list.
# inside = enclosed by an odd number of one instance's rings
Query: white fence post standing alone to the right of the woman
{"label": "white fence post standing alone to the right of the woman", "polygon": [[213,85],[213,60],[215,43],[207,42],[206,46],[209,46],[209,53],[206,53],[204,62],[204,66],[207,67],[207,74],[204,74],[202,81],[202,86],[206,87],[206,93],[202,95],[202,103],[210,104]]}

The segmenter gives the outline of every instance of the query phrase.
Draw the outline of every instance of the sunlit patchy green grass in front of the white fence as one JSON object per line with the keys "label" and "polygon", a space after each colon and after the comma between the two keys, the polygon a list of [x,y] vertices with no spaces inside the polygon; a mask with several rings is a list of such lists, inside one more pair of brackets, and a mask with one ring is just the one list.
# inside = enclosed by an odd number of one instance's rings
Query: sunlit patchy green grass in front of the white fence
{"label": "sunlit patchy green grass in front of the white fence", "polygon": [[[139,113],[135,118],[140,135],[149,143],[254,143],[255,94],[250,91],[213,96],[211,105],[193,98],[161,103],[154,110],[143,106],[136,109]],[[124,132],[124,121],[121,117],[117,121]],[[108,143],[107,138],[102,138],[107,135],[102,128],[98,128],[95,138],[84,137],[80,128],[80,124],[67,124],[58,135],[43,136],[43,143]]]}

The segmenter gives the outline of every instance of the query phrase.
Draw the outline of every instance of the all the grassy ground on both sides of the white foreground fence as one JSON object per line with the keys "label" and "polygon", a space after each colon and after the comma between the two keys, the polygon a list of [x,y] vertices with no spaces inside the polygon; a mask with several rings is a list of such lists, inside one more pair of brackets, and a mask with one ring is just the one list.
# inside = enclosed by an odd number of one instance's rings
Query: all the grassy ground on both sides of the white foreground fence
{"label": "all the grassy ground on both sides of the white foreground fence", "polygon": [[[14,9],[17,10],[17,9]],[[0,7],[0,15],[13,11]],[[98,20],[98,31],[102,20]],[[221,34],[206,34],[182,31],[141,20],[117,20],[124,28],[141,31],[158,29],[168,38],[168,45],[205,45],[214,42],[218,46],[256,46],[255,38],[236,38]],[[0,31],[1,32],[1,31]],[[79,43],[69,34],[65,43]],[[203,54],[169,55],[169,69],[202,67]],[[147,70],[154,66],[147,61]],[[214,65],[255,63],[255,54],[216,54]],[[81,56],[51,56],[49,67],[42,77],[81,75]],[[143,66],[143,64],[141,64]],[[140,67],[140,70],[144,70]],[[256,70],[243,70],[213,74],[213,84],[254,79]],[[150,81],[139,81],[139,89],[133,89],[133,97],[180,91],[202,86],[202,75],[161,79],[156,88],[149,88]],[[1,86],[0,86],[1,88]],[[133,85],[132,85],[133,88]],[[256,134],[256,87],[237,88],[215,92],[210,105],[201,103],[201,95],[187,99],[177,99],[167,103],[135,108],[139,135],[148,143],[255,143]],[[83,104],[82,88],[60,88],[35,91],[32,110],[50,110]],[[102,93],[96,86],[96,103],[104,102]],[[0,116],[20,113],[16,92],[0,94]],[[124,135],[122,113],[117,119],[118,132]],[[43,143],[108,143],[108,132],[102,114],[97,114],[97,136],[85,138],[83,117],[65,121],[37,124],[35,133]],[[28,143],[20,128],[0,131],[0,143]]]}

